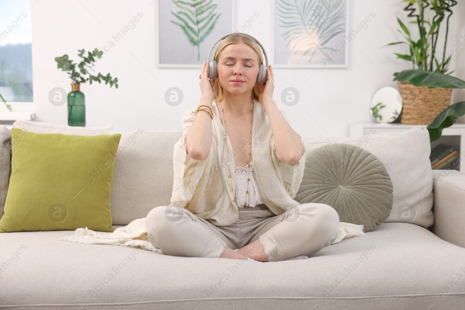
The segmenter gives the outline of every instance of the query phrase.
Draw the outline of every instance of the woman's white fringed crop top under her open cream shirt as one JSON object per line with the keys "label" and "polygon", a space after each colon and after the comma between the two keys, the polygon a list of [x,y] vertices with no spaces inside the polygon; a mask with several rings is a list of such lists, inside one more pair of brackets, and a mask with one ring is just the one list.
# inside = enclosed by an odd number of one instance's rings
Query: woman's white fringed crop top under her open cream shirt
{"label": "woman's white fringed crop top under her open cream shirt", "polygon": [[[251,165],[250,172],[247,165]],[[236,178],[236,188],[234,197],[239,208],[242,208],[246,202],[247,205],[250,205],[252,207],[256,206],[257,204],[264,203],[261,199],[259,185],[257,184],[257,180],[255,178],[255,172],[253,171],[252,160],[247,165],[243,167],[235,166],[234,168],[234,175]],[[248,180],[249,174],[250,181]],[[247,186],[249,191],[248,194],[246,193]]]}

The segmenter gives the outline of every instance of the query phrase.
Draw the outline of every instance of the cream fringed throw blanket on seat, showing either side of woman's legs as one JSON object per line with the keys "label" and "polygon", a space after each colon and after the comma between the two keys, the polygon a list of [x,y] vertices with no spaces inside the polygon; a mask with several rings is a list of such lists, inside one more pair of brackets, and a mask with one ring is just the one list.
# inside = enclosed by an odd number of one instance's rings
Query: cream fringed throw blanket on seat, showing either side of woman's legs
{"label": "cream fringed throw blanket on seat, showing either side of woman's legs", "polygon": [[[78,242],[82,244],[111,244],[140,247],[142,250],[154,251],[165,254],[159,248],[153,246],[148,240],[146,218],[138,218],[127,224],[125,227],[115,229],[113,232],[96,232],[86,228],[78,228],[74,235],[60,238],[60,240]],[[351,224],[339,222],[338,237],[332,244],[341,242],[349,237],[365,236],[363,224]]]}

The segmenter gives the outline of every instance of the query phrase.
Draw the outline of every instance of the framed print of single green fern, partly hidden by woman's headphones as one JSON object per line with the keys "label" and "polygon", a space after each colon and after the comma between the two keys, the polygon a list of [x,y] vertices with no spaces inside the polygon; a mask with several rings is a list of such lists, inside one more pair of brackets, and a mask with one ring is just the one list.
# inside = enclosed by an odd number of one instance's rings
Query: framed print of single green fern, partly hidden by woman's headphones
{"label": "framed print of single green fern, partly hidden by woman's headphones", "polygon": [[234,32],[235,0],[158,0],[158,67],[201,68],[213,43]]}

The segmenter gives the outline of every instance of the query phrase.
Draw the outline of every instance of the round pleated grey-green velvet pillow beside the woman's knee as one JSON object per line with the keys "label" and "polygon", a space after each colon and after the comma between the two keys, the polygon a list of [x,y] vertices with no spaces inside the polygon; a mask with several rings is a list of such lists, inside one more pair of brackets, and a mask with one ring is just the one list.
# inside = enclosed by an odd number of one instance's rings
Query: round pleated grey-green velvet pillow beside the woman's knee
{"label": "round pleated grey-green velvet pillow beside the woman's knee", "polygon": [[392,210],[392,182],[381,161],[345,143],[321,146],[306,155],[304,176],[294,198],[300,204],[332,206],[339,221],[372,231]]}

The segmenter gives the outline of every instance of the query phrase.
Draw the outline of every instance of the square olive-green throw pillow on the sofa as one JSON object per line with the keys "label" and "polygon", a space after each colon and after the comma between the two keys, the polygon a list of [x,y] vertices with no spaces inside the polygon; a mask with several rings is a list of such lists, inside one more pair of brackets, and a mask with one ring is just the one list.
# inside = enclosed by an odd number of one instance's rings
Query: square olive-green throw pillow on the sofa
{"label": "square olive-green throw pillow on the sofa", "polygon": [[114,231],[110,194],[120,133],[11,132],[12,174],[0,232]]}

